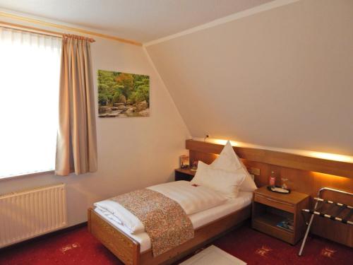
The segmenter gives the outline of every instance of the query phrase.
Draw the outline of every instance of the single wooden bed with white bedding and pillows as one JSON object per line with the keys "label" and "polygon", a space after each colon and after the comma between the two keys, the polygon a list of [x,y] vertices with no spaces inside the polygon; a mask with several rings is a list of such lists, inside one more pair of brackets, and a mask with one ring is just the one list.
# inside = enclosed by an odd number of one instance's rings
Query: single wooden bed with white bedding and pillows
{"label": "single wooden bed with white bedding and pillows", "polygon": [[[187,241],[182,241],[177,247],[173,245],[168,248],[169,250],[166,249],[165,252],[156,254],[154,248],[156,245],[153,242],[151,243],[150,240],[150,238],[155,237],[149,237],[145,230],[140,230],[141,232],[131,230],[131,228],[139,227],[136,225],[136,219],[140,218],[133,215],[135,220],[131,223],[134,226],[129,226],[130,222],[124,222],[124,218],[131,216],[131,213],[135,211],[128,211],[127,216],[122,216],[126,208],[119,199],[114,198],[97,202],[95,204],[97,208],[88,209],[89,231],[124,264],[133,265],[171,264],[198,247],[208,244],[208,242],[237,227],[251,216],[253,190],[256,189],[253,179],[235,155],[230,143],[227,143],[220,157],[215,161],[217,163],[213,163],[213,166],[199,163],[194,184],[191,182],[186,184],[186,182],[180,181],[146,188],[177,201],[184,209],[184,215],[186,213],[188,222],[191,221],[189,229],[193,231],[193,237],[189,237]],[[121,196],[124,196],[124,194]],[[135,193],[127,194],[127,196],[130,196],[129,199],[135,198]],[[214,201],[217,201],[217,196],[221,196],[223,199],[221,202],[218,200],[218,204],[213,204]],[[195,199],[196,201],[194,201]],[[134,205],[140,205],[140,208],[150,208],[150,205],[142,206],[146,200],[139,201],[139,204],[136,204],[135,199],[132,201]],[[112,206],[114,202],[118,202],[118,206]],[[159,204],[153,205],[157,206]],[[208,208],[191,211],[193,206],[196,205],[206,205]],[[159,208],[157,208],[157,211],[160,211]],[[164,223],[163,220],[161,220],[162,223]],[[152,228],[158,230],[159,224],[158,221]],[[171,237],[171,239],[174,238],[177,237]]]}

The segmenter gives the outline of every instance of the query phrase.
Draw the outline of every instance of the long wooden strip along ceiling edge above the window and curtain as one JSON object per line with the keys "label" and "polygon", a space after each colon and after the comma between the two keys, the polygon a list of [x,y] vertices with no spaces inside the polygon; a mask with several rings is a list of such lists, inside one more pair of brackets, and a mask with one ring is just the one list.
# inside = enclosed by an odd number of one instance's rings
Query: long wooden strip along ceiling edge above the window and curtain
{"label": "long wooden strip along ceiling edge above the window and curtain", "polygon": [[[102,34],[102,33],[95,33],[93,31],[89,31],[89,30],[83,30],[83,29],[80,29],[80,28],[72,28],[72,27],[69,27],[69,26],[66,26],[66,25],[59,25],[59,24],[55,24],[55,23],[49,23],[49,22],[42,21],[42,20],[37,20],[37,19],[33,19],[33,18],[26,18],[24,16],[18,16],[18,15],[14,15],[14,14],[11,14],[11,13],[4,13],[4,12],[0,11],[0,17],[1,16],[4,16],[6,18],[13,18],[13,19],[16,19],[16,20],[22,20],[22,21],[34,23],[34,24],[37,24],[37,25],[49,26],[49,27],[52,27],[52,28],[60,28],[61,30],[68,30],[68,31],[74,31],[74,32],[81,33],[81,34],[87,34],[87,35],[92,35],[92,36],[96,36],[96,37],[103,37],[105,39],[116,40],[118,42],[124,42],[124,43],[128,43],[130,45],[142,46],[142,43],[136,42],[135,40],[126,40],[126,39],[123,39],[121,37],[115,37],[115,36],[112,36],[112,35],[106,35],[106,34]],[[20,26],[22,27],[22,25],[20,25]],[[30,27],[30,28],[34,28],[34,27]],[[35,28],[35,29],[37,29],[37,28]],[[37,30],[42,30],[42,29],[38,28]],[[50,33],[58,34],[58,33],[55,33],[54,31],[51,31],[51,30],[47,30],[47,32],[49,34]],[[61,34],[61,33],[59,33],[59,34]]]}

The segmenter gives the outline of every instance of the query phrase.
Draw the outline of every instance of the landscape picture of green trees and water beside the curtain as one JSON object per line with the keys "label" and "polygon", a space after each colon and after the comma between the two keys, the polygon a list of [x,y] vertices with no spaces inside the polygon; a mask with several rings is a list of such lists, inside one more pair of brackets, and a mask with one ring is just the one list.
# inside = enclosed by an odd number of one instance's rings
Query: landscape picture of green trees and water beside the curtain
{"label": "landscape picture of green trees and water beside the curtain", "polygon": [[98,70],[98,117],[150,116],[150,76]]}

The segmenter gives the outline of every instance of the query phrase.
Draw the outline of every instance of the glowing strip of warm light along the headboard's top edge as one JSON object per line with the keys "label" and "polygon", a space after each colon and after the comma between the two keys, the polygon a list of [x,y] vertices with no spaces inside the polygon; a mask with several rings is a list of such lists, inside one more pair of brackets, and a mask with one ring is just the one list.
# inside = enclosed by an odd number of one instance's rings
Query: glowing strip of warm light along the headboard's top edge
{"label": "glowing strip of warm light along the headboard's top edge", "polygon": [[[202,141],[199,138],[193,138],[193,140]],[[225,145],[225,143],[227,143],[227,140],[224,140],[224,139],[208,138],[207,141],[209,143],[217,143],[217,144],[222,144],[222,145]],[[264,149],[264,150],[270,150],[270,151],[303,155],[303,156],[308,156],[310,158],[321,158],[321,159],[326,159],[326,160],[353,163],[353,156],[349,156],[349,155],[338,155],[335,153],[323,153],[323,152],[305,151],[305,150],[297,150],[297,149],[273,148],[273,147],[268,147],[268,146],[256,146],[251,143],[241,143],[241,142],[236,142],[236,141],[230,141],[230,143],[232,143],[232,146],[258,148],[258,149]]]}

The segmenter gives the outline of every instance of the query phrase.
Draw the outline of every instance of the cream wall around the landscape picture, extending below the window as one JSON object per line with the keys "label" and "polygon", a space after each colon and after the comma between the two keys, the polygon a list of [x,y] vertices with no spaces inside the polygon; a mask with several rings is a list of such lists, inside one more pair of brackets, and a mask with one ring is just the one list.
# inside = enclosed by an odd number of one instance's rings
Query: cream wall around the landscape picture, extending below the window
{"label": "cream wall around the landscape picture, extending below the window", "polygon": [[[95,201],[172,180],[190,136],[143,48],[98,37],[95,40],[91,45],[95,83],[98,69],[149,75],[150,117],[97,118],[99,169],[95,173],[0,180],[0,194],[66,183],[69,225],[87,220],[87,209]],[[97,98],[97,84],[95,93]]]}

